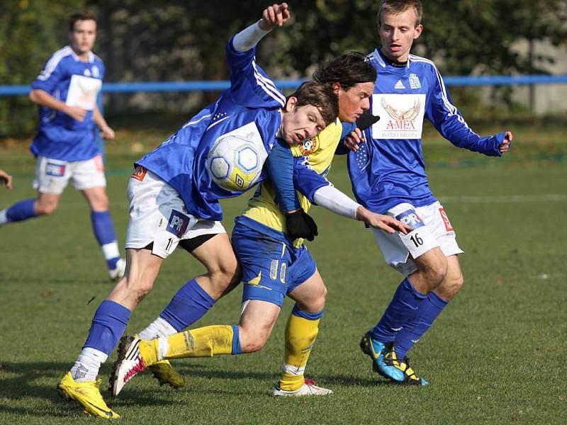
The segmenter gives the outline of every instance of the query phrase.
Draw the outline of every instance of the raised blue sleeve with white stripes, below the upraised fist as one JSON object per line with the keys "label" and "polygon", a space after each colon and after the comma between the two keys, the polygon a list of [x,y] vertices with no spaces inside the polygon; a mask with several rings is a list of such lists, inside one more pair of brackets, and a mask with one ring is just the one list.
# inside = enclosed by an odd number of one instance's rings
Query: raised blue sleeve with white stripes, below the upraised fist
{"label": "raised blue sleeve with white stripes, below the upraised fist", "polygon": [[235,103],[250,108],[283,108],[286,96],[276,88],[274,81],[256,64],[256,47],[238,52],[232,38],[226,47],[230,69],[230,94]]}

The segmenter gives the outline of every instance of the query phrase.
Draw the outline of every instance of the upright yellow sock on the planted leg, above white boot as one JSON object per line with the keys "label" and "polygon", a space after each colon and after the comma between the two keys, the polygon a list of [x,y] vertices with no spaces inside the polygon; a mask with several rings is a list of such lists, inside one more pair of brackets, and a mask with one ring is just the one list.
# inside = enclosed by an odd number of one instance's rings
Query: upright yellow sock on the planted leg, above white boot
{"label": "upright yellow sock on the planted leg, above white boot", "polygon": [[[319,315],[320,317],[320,315]],[[295,391],[305,382],[303,373],[311,353],[311,348],[319,331],[320,319],[305,319],[290,314],[286,325],[286,354],[283,357],[283,375],[279,387],[285,391]]]}

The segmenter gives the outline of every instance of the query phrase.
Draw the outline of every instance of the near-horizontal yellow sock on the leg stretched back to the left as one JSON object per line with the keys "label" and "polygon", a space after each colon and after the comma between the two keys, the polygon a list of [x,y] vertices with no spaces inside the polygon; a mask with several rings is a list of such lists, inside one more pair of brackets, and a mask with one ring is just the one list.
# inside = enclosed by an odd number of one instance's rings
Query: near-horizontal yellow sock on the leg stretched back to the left
{"label": "near-horizontal yellow sock on the leg stretched back to the left", "polygon": [[212,357],[232,353],[230,325],[213,325],[169,336],[164,358]]}

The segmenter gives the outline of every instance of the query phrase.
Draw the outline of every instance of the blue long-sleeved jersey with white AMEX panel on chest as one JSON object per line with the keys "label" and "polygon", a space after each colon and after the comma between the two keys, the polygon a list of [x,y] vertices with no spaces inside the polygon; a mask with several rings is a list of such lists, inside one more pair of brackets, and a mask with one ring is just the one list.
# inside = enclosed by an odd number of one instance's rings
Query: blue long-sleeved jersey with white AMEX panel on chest
{"label": "blue long-sleeved jersey with white AMEX panel on chest", "polygon": [[381,119],[364,131],[366,142],[358,152],[349,152],[352,190],[359,203],[383,213],[403,202],[435,202],[422,152],[425,118],[457,147],[501,155],[498,147],[505,133],[480,137],[468,128],[432,61],[410,55],[407,66],[393,67],[378,49],[369,58],[378,71],[371,111]]}

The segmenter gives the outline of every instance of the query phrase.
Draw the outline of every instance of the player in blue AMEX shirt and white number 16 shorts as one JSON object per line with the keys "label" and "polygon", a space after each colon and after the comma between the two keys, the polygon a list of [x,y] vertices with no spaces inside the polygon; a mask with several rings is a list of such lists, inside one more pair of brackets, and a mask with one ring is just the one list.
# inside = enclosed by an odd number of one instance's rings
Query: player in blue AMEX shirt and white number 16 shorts
{"label": "player in blue AMEX shirt and white number 16 shorts", "polygon": [[489,156],[502,156],[512,141],[509,131],[490,137],[473,132],[451,103],[434,63],[410,55],[413,40],[422,33],[421,17],[419,0],[382,2],[381,47],[369,55],[378,71],[371,112],[381,120],[346,143],[354,151],[348,167],[359,203],[414,228],[408,234],[374,232],[386,262],[406,277],[361,341],[376,372],[408,385],[427,385],[427,380],[417,377],[406,353],[463,285],[457,256],[463,251],[425,174],[423,120],[457,147]]}

